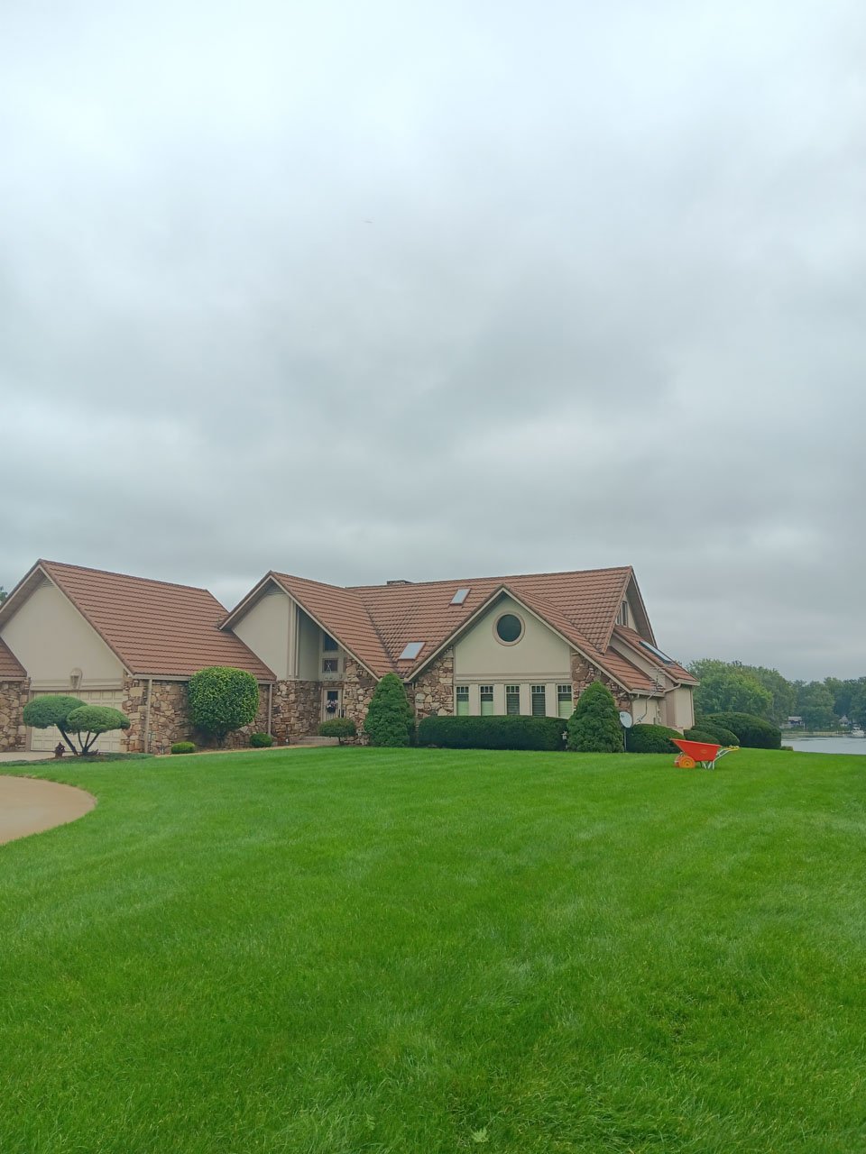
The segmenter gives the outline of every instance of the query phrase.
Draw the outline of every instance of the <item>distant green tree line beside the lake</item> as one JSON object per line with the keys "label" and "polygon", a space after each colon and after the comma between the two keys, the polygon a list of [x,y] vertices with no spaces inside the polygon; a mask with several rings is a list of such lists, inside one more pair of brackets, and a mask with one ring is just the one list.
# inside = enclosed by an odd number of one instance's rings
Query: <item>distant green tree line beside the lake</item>
{"label": "distant green tree line beside the lake", "polygon": [[778,726],[801,717],[807,729],[866,726],[866,677],[789,681],[778,669],[714,658],[693,661],[688,670],[701,682],[695,690],[699,714],[754,713]]}

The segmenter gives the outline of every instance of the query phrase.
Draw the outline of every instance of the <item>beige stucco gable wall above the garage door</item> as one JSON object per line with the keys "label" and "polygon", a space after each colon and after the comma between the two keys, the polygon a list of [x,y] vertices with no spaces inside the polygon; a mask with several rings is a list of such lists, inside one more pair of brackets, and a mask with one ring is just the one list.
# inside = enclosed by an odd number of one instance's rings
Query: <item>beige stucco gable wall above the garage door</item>
{"label": "beige stucco gable wall above the garage door", "polygon": [[82,689],[122,688],[120,661],[50,582],[28,598],[0,636],[27,669],[33,691],[68,689],[73,669],[82,672]]}

